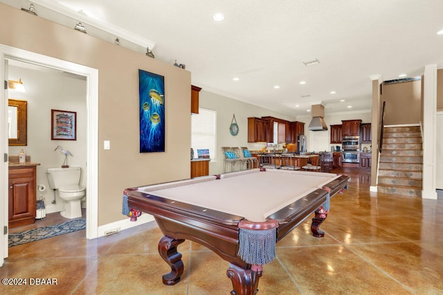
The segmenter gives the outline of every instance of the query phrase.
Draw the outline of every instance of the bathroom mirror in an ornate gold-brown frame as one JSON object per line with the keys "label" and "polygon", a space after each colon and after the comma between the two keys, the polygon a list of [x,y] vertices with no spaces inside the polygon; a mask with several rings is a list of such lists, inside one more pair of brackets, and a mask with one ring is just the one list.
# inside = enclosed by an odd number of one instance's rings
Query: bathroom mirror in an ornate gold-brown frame
{"label": "bathroom mirror in an ornate gold-brown frame", "polygon": [[27,145],[27,102],[8,99],[9,145]]}

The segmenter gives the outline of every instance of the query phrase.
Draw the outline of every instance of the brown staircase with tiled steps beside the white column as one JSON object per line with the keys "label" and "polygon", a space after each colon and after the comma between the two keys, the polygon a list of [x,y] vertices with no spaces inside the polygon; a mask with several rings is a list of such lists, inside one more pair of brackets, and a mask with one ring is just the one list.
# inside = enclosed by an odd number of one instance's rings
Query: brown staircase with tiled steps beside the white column
{"label": "brown staircase with tiled steps beside the white column", "polygon": [[377,191],[422,197],[422,171],[420,127],[385,127]]}

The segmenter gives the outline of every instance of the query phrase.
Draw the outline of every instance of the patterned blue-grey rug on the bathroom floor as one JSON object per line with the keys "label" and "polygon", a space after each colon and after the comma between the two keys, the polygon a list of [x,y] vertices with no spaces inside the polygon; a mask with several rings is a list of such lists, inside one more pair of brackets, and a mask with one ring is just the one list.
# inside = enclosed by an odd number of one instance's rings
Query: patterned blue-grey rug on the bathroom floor
{"label": "patterned blue-grey rug on the bathroom floor", "polygon": [[28,231],[19,231],[18,233],[10,233],[8,240],[8,247],[26,244],[28,242],[35,242],[52,238],[57,235],[64,235],[65,233],[73,233],[74,231],[81,231],[86,229],[86,220],[70,220],[61,224],[48,225],[39,227],[38,229],[30,229]]}

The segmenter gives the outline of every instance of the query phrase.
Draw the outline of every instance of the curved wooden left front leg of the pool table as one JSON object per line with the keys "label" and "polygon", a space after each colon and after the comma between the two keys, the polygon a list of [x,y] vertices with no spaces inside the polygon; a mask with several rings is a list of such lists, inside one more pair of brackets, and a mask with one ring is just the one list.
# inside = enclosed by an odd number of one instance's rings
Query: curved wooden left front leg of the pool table
{"label": "curved wooden left front leg of the pool table", "polygon": [[166,235],[160,239],[159,253],[161,258],[168,262],[171,271],[163,275],[163,284],[175,285],[179,283],[180,276],[183,274],[183,261],[181,261],[181,253],[177,252],[177,246],[185,240],[175,240]]}

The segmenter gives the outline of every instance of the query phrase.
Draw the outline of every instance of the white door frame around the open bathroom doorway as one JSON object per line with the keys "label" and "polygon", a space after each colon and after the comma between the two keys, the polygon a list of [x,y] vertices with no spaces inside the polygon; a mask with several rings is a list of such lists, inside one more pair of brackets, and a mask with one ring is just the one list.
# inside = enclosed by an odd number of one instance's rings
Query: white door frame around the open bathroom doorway
{"label": "white door frame around the open bathroom doorway", "polygon": [[[53,69],[83,75],[87,78],[87,208],[86,208],[86,238],[98,238],[98,69],[89,66],[82,66],[66,60],[59,60],[54,57],[25,51],[19,48],[0,44],[0,78],[6,80],[5,66],[6,58],[21,60],[31,64],[47,66]],[[8,90],[0,91],[0,114],[4,119],[0,121],[2,134],[8,134],[6,111],[8,109]],[[8,137],[0,138],[0,154],[8,155]],[[8,226],[8,162],[0,161],[0,267],[3,265],[3,258],[8,257],[8,233],[3,229]],[[3,197],[1,197],[3,195]]]}

